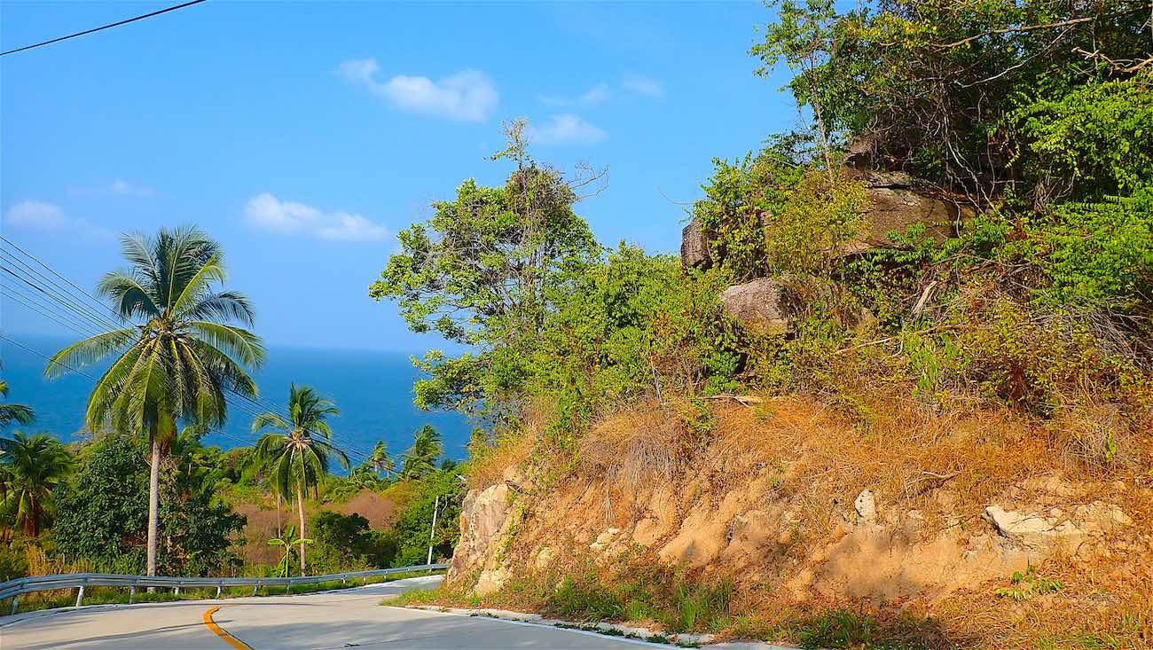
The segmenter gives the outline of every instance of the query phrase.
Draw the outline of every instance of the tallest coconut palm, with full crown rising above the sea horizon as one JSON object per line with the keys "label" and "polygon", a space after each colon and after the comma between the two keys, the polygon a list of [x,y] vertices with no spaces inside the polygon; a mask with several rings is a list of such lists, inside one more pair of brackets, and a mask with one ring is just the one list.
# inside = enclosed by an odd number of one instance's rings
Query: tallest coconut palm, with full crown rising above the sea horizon
{"label": "tallest coconut palm, with full crown rising above the sea horizon", "polygon": [[[261,340],[243,328],[253,308],[242,294],[220,290],[226,279],[217,242],[195,227],[161,229],[155,237],[125,235],[125,270],[104,275],[97,286],[125,322],[60,350],[44,373],[114,357],[88,399],[91,431],[146,436],[149,476],[148,574],[156,575],[159,469],[180,421],[204,426],[224,424],[225,391],[256,395],[246,368],[264,361]],[[239,324],[239,325],[238,325]]]}

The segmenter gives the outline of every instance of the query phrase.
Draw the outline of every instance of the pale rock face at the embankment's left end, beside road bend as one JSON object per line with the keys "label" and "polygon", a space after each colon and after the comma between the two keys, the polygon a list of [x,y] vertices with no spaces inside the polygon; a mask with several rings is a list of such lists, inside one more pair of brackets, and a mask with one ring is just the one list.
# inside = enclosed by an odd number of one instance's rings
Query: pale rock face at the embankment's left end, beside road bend
{"label": "pale rock face at the embankment's left end, beside road bend", "polygon": [[469,490],[460,511],[460,542],[452,554],[449,582],[468,580],[480,572],[476,590],[496,591],[506,570],[492,552],[508,522],[508,485],[498,483],[485,490]]}

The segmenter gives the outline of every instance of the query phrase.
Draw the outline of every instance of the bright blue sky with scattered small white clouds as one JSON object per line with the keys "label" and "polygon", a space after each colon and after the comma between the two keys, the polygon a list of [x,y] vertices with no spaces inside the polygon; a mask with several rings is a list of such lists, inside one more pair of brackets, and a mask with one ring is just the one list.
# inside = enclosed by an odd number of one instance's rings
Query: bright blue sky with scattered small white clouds
{"label": "bright blue sky with scattered small white clouds", "polygon": [[[5,50],[167,5],[0,2]],[[0,59],[2,233],[90,288],[125,230],[196,222],[269,343],[420,352],[368,285],[394,234],[467,177],[500,122],[536,157],[610,168],[578,212],[604,243],[677,249],[714,157],[797,112],[739,3],[212,0]],[[63,333],[5,298],[10,333]]]}

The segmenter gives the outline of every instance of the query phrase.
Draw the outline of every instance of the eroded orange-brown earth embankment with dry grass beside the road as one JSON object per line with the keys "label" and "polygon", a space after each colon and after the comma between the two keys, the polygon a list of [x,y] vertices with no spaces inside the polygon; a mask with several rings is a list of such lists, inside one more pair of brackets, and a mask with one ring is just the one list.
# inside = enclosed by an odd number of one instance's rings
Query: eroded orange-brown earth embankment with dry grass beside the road
{"label": "eroded orange-brown earth embankment with dry grass beside the road", "polygon": [[478,460],[442,598],[814,647],[1151,643],[1148,431],[1090,469],[1007,410],[778,398],[684,422],[647,405]]}

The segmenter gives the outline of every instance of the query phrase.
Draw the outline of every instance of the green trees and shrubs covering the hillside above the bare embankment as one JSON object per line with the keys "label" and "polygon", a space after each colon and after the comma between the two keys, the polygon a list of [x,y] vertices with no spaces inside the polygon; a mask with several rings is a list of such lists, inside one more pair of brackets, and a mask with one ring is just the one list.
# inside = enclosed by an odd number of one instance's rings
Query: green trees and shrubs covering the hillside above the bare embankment
{"label": "green trees and shrubs covering the hillside above the bare embankment", "polygon": [[[589,177],[535,160],[523,124],[495,156],[502,187],[466,181],[401,233],[370,295],[432,350],[417,403],[487,418],[474,455],[549,403],[552,440],[640,399],[737,390],[843,395],[909,385],[928,408],[1004,405],[1042,420],[1147,416],[1153,327],[1153,66],[1147,5],[773,3],[752,48],[784,63],[808,118],[760,151],[716,160],[691,210],[711,267],[604,248],[574,210]],[[951,236],[921,225],[892,247],[868,227],[861,175],[899,171],[959,206]],[[861,159],[865,162],[861,162]],[[783,333],[730,318],[726,286],[796,295]],[[1110,408],[1114,408],[1110,407]],[[691,421],[685,409],[683,418]],[[488,436],[488,439],[485,439]],[[1120,459],[1076,437],[1085,460]]]}

